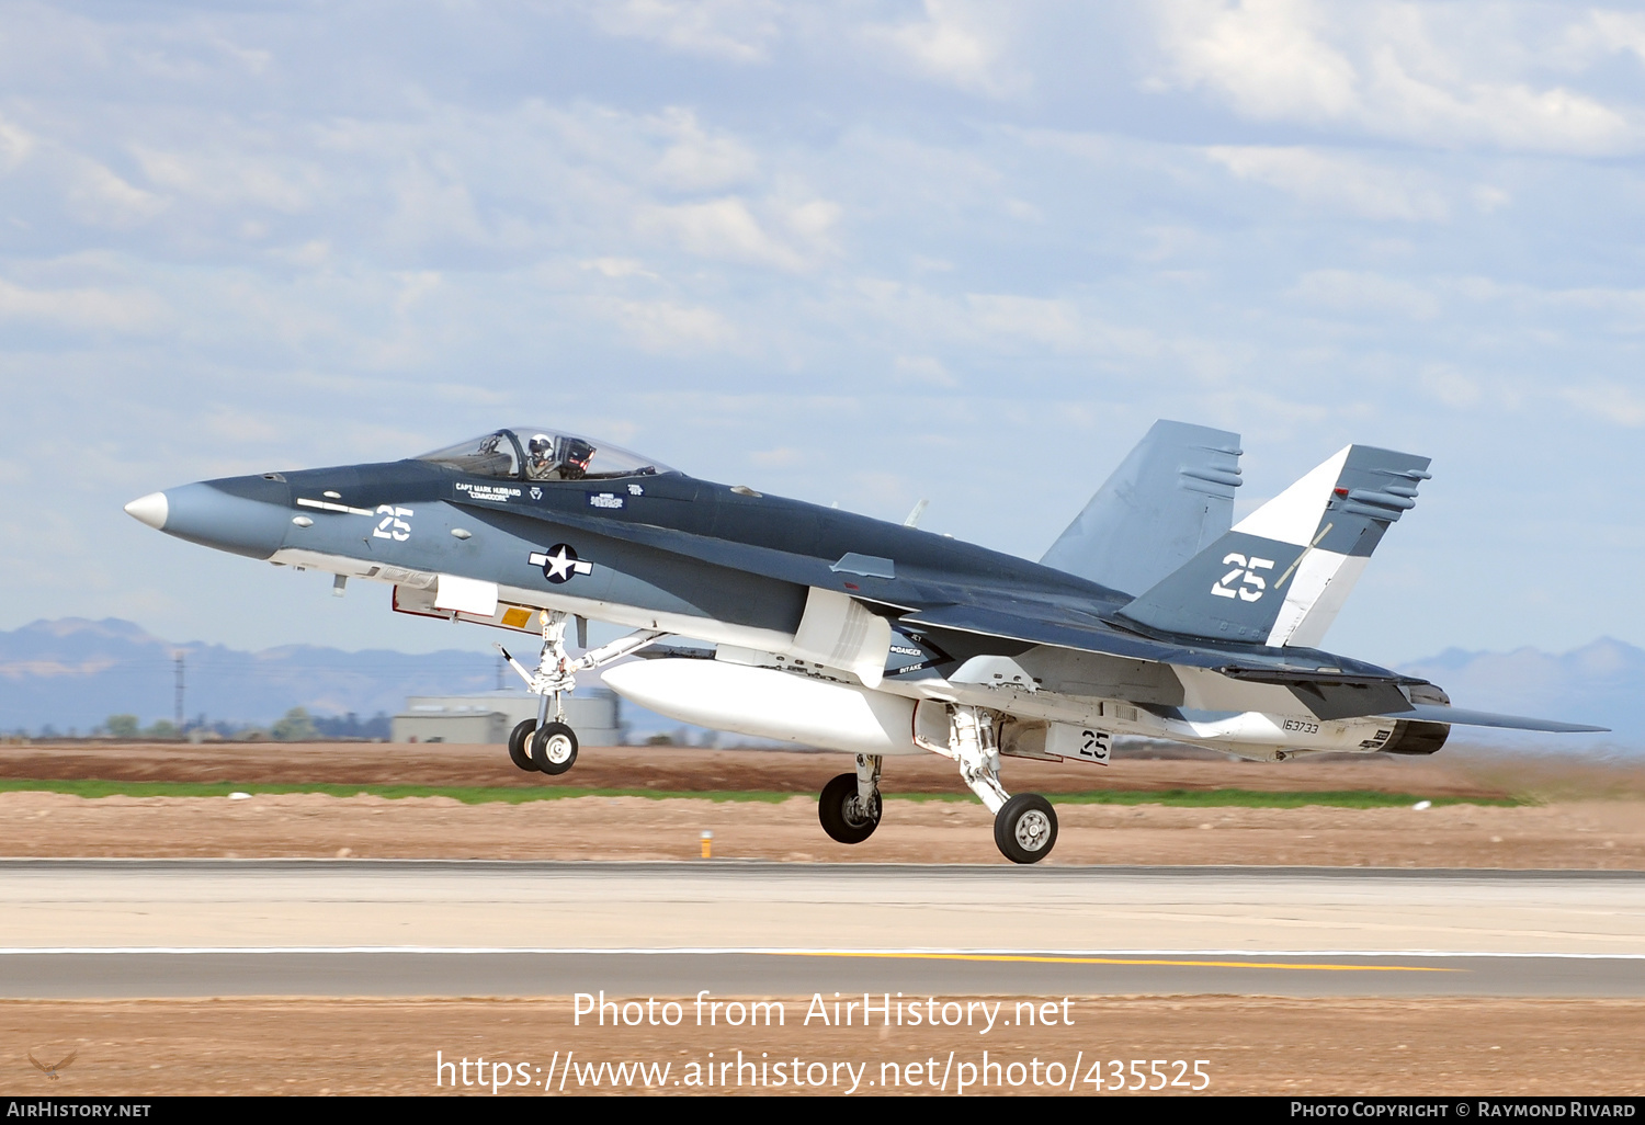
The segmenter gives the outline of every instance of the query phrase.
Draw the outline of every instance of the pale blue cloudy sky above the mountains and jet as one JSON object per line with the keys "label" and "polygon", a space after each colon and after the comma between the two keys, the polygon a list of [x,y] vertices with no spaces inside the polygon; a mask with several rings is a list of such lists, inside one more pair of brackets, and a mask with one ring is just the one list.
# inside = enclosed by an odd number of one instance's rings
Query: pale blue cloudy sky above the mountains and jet
{"label": "pale blue cloudy sky above the mountains and jet", "polygon": [[1642,645],[1642,79],[1571,3],[0,3],[0,628],[484,648],[120,508],[515,423],[1038,558],[1176,418],[1237,515],[1433,457],[1326,648]]}

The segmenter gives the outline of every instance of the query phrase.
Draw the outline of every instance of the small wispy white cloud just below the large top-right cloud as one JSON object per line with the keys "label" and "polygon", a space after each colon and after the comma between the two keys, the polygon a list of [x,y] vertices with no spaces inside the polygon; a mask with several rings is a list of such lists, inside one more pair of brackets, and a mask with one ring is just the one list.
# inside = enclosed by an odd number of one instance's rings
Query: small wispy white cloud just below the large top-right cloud
{"label": "small wispy white cloud just below the large top-right cloud", "polygon": [[1240,179],[1278,188],[1319,207],[1365,219],[1436,222],[1449,215],[1444,196],[1428,178],[1405,168],[1300,146],[1219,145],[1206,155]]}

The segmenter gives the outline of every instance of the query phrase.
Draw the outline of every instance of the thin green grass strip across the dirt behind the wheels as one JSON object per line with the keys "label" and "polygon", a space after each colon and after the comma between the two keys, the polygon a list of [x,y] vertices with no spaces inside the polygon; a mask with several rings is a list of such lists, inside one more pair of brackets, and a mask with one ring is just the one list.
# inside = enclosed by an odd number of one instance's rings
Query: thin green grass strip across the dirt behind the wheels
{"label": "thin green grass strip across the dirt behind the wheels", "polygon": [[[324,793],[326,796],[380,796],[387,799],[444,796],[464,804],[503,801],[558,801],[579,796],[640,796],[661,801],[684,798],[694,801],[767,801],[772,804],[804,793],[772,793],[765,789],[642,789],[612,788],[589,789],[569,785],[543,786],[438,786],[438,785],[243,785],[234,781],[35,781],[26,778],[0,778],[0,793],[67,793],[81,798],[105,796],[181,796],[222,798],[230,793]],[[887,793],[890,799],[903,801],[969,801],[969,793]],[[1265,793],[1260,789],[1096,789],[1091,793],[1051,793],[1053,804],[1171,804],[1184,808],[1247,808],[1247,809],[1300,809],[1308,804],[1324,804],[1346,809],[1410,808],[1418,801],[1433,804],[1495,804],[1517,806],[1533,801],[1518,798],[1425,798],[1415,793],[1377,793],[1374,789],[1339,789],[1328,793]]]}

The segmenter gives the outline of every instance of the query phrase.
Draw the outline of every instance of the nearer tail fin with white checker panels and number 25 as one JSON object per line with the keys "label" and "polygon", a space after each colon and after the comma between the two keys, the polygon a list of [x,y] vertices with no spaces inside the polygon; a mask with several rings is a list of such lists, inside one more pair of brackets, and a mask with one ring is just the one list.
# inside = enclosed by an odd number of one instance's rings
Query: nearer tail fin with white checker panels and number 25
{"label": "nearer tail fin with white checker panels and number 25", "polygon": [[1324,640],[1428,457],[1349,446],[1124,610],[1140,625],[1258,645]]}

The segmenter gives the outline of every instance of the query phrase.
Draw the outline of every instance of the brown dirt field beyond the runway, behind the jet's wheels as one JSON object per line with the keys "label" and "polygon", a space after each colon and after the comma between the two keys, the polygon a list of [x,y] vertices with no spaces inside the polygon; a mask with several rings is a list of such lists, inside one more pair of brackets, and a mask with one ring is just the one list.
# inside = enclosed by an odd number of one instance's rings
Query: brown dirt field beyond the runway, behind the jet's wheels
{"label": "brown dirt field beyond the runway, behind the jet's wheels", "polygon": [[[0,793],[0,855],[406,857],[696,860],[702,832],[716,859],[785,862],[1003,863],[975,799],[913,801],[897,793],[964,793],[951,763],[892,758],[880,829],[865,844],[829,840],[814,793],[844,755],[592,748],[559,781],[663,791],[763,789],[781,803],[582,796],[523,804],[451,798],[324,794],[84,799]],[[0,776],[143,781],[541,786],[500,747],[222,745],[3,747]],[[1010,762],[1013,791],[1053,796],[1125,789],[1377,789],[1420,796],[1531,794],[1546,803],[1430,809],[1058,808],[1048,863],[1300,863],[1326,867],[1645,868],[1645,778],[1638,768],[1489,758],[1301,763],[1148,762],[1112,766]]]}

